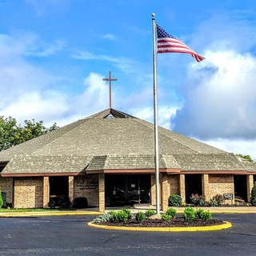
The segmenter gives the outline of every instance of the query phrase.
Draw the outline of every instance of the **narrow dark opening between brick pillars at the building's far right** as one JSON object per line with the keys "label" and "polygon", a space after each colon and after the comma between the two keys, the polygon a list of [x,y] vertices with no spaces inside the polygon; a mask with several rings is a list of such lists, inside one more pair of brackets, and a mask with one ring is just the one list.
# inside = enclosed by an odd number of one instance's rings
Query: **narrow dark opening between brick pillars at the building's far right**
{"label": "narrow dark opening between brick pillars at the building's far right", "polygon": [[246,175],[234,175],[234,201],[247,202]]}

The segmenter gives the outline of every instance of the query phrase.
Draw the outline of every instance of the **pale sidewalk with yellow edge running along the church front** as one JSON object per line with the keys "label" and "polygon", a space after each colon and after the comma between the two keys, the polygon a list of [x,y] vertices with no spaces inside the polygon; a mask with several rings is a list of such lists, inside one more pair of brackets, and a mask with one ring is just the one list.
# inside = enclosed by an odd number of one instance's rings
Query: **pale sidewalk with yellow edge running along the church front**
{"label": "pale sidewalk with yellow edge running along the church front", "polygon": [[[124,207],[107,208],[109,210],[120,210]],[[202,208],[209,210],[212,214],[256,214],[255,206],[222,206],[222,207],[194,207],[195,210]],[[134,206],[130,207],[133,213],[138,211],[145,212],[146,210],[155,210],[154,206]],[[174,207],[178,214],[182,214],[185,207]],[[102,214],[98,208],[87,208],[82,210],[49,210],[49,211],[24,211],[24,212],[0,212],[1,217],[33,217],[33,216],[61,216],[61,215],[97,215]]]}

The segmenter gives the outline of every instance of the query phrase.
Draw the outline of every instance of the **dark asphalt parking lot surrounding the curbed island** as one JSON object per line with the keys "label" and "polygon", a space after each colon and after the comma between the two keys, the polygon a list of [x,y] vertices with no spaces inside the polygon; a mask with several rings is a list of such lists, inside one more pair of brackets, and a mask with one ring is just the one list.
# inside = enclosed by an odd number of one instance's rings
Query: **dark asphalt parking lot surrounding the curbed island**
{"label": "dark asphalt parking lot surrounding the curbed island", "polygon": [[255,255],[256,214],[214,214],[228,230],[142,232],[86,226],[96,216],[0,218],[0,255]]}

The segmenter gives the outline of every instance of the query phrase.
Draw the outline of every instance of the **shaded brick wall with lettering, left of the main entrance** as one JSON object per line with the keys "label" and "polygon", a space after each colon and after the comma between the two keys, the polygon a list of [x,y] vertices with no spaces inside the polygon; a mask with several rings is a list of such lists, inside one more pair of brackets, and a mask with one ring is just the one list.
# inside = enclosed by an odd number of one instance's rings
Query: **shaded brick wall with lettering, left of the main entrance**
{"label": "shaded brick wall with lettering, left of the main entrance", "polygon": [[74,198],[87,198],[88,206],[98,206],[98,174],[75,176]]}

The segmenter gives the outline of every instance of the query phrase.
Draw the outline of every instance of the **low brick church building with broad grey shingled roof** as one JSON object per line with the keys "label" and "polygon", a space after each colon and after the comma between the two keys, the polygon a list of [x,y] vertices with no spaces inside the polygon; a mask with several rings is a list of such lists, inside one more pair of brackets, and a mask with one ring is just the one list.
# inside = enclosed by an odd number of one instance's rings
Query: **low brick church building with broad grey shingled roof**
{"label": "low brick church building with broad grey shingled roof", "polygon": [[[226,195],[250,201],[255,162],[159,126],[160,202]],[[155,205],[154,125],[109,108],[0,152],[0,186],[14,208],[86,198],[88,206]]]}

